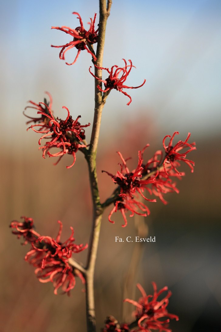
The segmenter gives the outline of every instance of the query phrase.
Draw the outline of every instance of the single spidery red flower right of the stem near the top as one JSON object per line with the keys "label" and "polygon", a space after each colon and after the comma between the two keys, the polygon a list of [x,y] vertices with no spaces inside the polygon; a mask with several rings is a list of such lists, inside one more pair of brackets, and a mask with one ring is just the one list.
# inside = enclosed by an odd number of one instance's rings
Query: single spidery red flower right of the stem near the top
{"label": "single spidery red flower right of the stem near the top", "polygon": [[[124,85],[124,82],[126,81],[132,67],[134,67],[132,65],[132,61],[128,60],[130,62],[130,65],[127,65],[127,62],[125,59],[122,59],[125,62],[125,67],[121,68],[118,67],[116,65],[111,67],[111,70],[109,70],[108,68],[104,68],[104,67],[97,67],[96,65],[94,65],[96,68],[98,69],[103,69],[106,70],[109,74],[108,78],[106,80],[102,80],[99,77],[96,77],[90,70],[89,68],[89,72],[91,73],[91,75],[96,78],[98,81],[103,82],[104,83],[104,87],[105,89],[102,90],[99,85],[97,85],[97,88],[102,91],[102,92],[107,92],[111,89],[116,89],[120,92],[122,92],[125,96],[128,96],[130,98],[130,101],[127,103],[127,105],[130,105],[130,103],[132,102],[131,96],[129,96],[125,91],[123,91],[122,89],[137,89],[140,88],[141,86],[143,86],[143,84],[146,82],[146,80],[143,81],[143,83],[139,86],[133,87],[133,86],[127,86]],[[127,69],[128,67],[130,67],[129,69]],[[115,69],[116,68],[116,69]],[[119,77],[119,75],[121,75]]]}

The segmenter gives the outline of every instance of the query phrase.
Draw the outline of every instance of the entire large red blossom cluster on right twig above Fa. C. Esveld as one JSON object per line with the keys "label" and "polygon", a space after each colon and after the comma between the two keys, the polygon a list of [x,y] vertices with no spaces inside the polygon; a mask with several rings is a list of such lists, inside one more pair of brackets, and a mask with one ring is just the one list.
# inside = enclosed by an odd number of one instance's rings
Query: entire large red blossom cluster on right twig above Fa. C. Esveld
{"label": "entire large red blossom cluster on right twig above Fa. C. Esveld", "polygon": [[[179,190],[176,188],[176,182],[174,182],[173,179],[181,179],[182,176],[185,175],[184,172],[180,172],[177,169],[181,166],[180,162],[186,163],[193,172],[194,162],[186,159],[186,155],[188,152],[195,149],[195,143],[188,142],[191,135],[188,133],[185,141],[180,140],[173,146],[173,139],[177,134],[179,134],[179,132],[175,131],[172,137],[166,135],[163,139],[164,154],[162,150],[156,151],[147,163],[143,163],[143,153],[149,144],[147,144],[141,151],[138,151],[138,166],[132,172],[129,171],[126,160],[120,152],[118,152],[118,154],[123,162],[123,164],[120,164],[121,171],[117,171],[116,175],[102,171],[110,175],[113,182],[118,185],[118,188],[115,191],[115,206],[112,208],[108,216],[110,222],[114,222],[111,220],[111,216],[118,210],[122,213],[125,221],[124,225],[122,225],[123,227],[127,225],[127,218],[125,215],[125,212],[127,211],[131,212],[131,217],[134,213],[143,216],[149,215],[150,211],[148,207],[138,200],[138,194],[140,194],[146,201],[156,202],[156,199],[147,199],[143,195],[145,190],[149,194],[159,197],[164,204],[167,204],[163,197],[164,194],[170,192],[179,193]],[[165,139],[167,137],[170,137],[170,141],[166,146]],[[181,153],[180,150],[184,148],[187,148],[187,151]],[[141,210],[141,212],[138,212],[138,209]]]}

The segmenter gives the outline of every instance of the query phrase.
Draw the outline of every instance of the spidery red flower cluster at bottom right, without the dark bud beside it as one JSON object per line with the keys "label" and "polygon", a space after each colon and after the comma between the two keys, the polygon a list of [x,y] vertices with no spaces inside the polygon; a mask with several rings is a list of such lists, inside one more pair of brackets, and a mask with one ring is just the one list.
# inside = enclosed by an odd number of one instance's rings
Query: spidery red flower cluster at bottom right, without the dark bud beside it
{"label": "spidery red flower cluster at bottom right, without the dark bud beside it", "polygon": [[[135,315],[138,320],[138,329],[133,329],[134,332],[151,332],[152,330],[159,330],[159,332],[171,332],[168,328],[170,319],[179,320],[177,315],[168,313],[166,307],[169,303],[169,297],[172,295],[171,291],[168,291],[167,295],[158,300],[158,297],[168,287],[164,287],[157,291],[157,286],[153,282],[153,295],[146,295],[141,285],[137,285],[140,290],[142,297],[139,298],[138,302],[126,298],[124,302],[132,303],[136,306]],[[164,318],[164,320],[162,320]],[[166,319],[165,319],[166,318]]]}

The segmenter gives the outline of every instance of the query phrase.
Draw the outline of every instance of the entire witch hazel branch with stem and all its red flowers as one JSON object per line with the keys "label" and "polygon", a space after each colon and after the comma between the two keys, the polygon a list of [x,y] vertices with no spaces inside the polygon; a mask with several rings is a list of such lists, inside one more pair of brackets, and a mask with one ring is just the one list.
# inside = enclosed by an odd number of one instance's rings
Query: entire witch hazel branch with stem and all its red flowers
{"label": "entire witch hazel branch with stem and all its red flowers", "polygon": [[[116,174],[111,174],[108,170],[103,170],[114,182],[116,188],[112,195],[105,202],[101,203],[99,198],[99,187],[96,172],[96,153],[99,139],[99,130],[101,124],[102,110],[106,99],[112,90],[117,90],[129,98],[127,105],[132,102],[132,97],[126,92],[127,89],[138,89],[145,84],[145,79],[138,86],[126,85],[126,80],[134,67],[131,59],[128,62],[123,58],[124,65],[112,65],[111,69],[103,67],[103,50],[105,41],[105,30],[107,19],[110,15],[112,1],[99,0],[100,13],[99,24],[96,24],[96,13],[93,19],[90,18],[88,30],[83,25],[79,13],[77,15],[80,26],[75,29],[62,26],[52,27],[65,32],[71,41],[67,40],[63,45],[51,45],[61,48],[59,58],[65,60],[67,51],[77,51],[72,63],[76,63],[80,53],[87,51],[88,57],[91,57],[93,66],[89,66],[89,72],[94,77],[95,82],[95,106],[94,120],[92,124],[92,133],[90,141],[86,140],[86,128],[90,125],[81,124],[81,115],[73,114],[66,106],[66,118],[59,117],[59,112],[54,113],[52,107],[52,96],[46,92],[47,98],[43,102],[36,103],[29,101],[24,115],[28,118],[27,130],[33,130],[40,134],[38,139],[39,149],[42,151],[42,157],[53,157],[54,165],[65,157],[67,159],[67,169],[72,169],[76,162],[77,153],[82,152],[88,165],[89,181],[91,189],[91,198],[93,203],[93,214],[91,221],[91,234],[89,244],[76,244],[74,238],[74,229],[71,226],[70,237],[61,240],[62,222],[59,220],[59,230],[56,238],[40,235],[34,227],[34,221],[30,217],[22,216],[21,221],[14,220],[10,227],[12,233],[19,239],[23,238],[23,245],[30,245],[30,249],[25,256],[25,260],[34,267],[34,273],[41,283],[52,283],[54,294],[62,293],[70,295],[74,289],[76,279],[80,279],[85,286],[86,300],[86,321],[87,332],[97,331],[95,305],[94,305],[94,272],[95,262],[98,250],[98,241],[101,227],[101,220],[104,210],[109,210],[108,220],[114,223],[114,214],[120,212],[122,215],[122,227],[126,227],[129,219],[134,214],[148,216],[150,214],[151,204],[160,200],[167,204],[165,196],[167,193],[179,193],[177,180],[181,180],[185,173],[182,170],[182,164],[187,164],[193,172],[194,162],[187,158],[187,154],[195,150],[195,143],[190,143],[191,134],[187,138],[176,142],[175,131],[172,135],[166,135],[163,138],[162,149],[157,150],[153,156],[146,157],[149,144],[146,144],[138,151],[138,164],[136,169],[130,170],[127,161],[131,158],[124,158],[120,151],[119,166]],[[98,27],[97,27],[97,26]],[[70,40],[70,38],[69,38]],[[96,51],[94,50],[96,44]],[[93,70],[91,69],[93,67]],[[107,72],[105,79],[102,79],[103,72]],[[102,86],[103,84],[103,86]],[[126,90],[126,91],[125,91]],[[33,109],[36,115],[30,116],[29,110]],[[67,155],[72,156],[72,161]],[[55,158],[54,158],[55,157]],[[71,172],[71,170],[68,170]],[[103,221],[105,227],[106,220]],[[78,262],[78,253],[88,250],[87,262]],[[108,316],[103,326],[103,332],[170,332],[170,319],[178,320],[178,316],[168,313],[167,306],[171,292],[167,287],[157,290],[153,282],[153,295],[147,295],[141,285],[137,285],[141,292],[141,297],[136,300],[126,298],[124,301],[134,305],[134,319],[131,322],[120,323],[115,317]],[[163,294],[163,295],[162,295]]]}

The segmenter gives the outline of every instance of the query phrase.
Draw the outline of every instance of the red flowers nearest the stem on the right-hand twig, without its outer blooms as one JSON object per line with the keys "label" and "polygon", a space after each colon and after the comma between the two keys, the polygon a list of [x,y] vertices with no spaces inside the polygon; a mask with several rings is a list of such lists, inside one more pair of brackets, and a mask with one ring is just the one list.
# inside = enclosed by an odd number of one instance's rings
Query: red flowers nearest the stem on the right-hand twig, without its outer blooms
{"label": "red flowers nearest the stem on the right-hand twig, without its outer blooms", "polygon": [[[115,207],[113,207],[108,216],[108,220],[114,223],[114,221],[112,221],[110,218],[114,212],[120,210],[125,221],[125,224],[122,225],[122,227],[125,227],[127,225],[127,218],[125,215],[126,211],[131,211],[130,217],[132,217],[134,213],[143,216],[149,215],[150,212],[148,207],[146,207],[143,203],[139,202],[138,199],[135,198],[138,198],[138,194],[140,194],[146,201],[156,202],[155,199],[150,200],[143,195],[144,190],[148,190],[147,185],[154,183],[155,178],[150,177],[147,180],[140,179],[142,177],[143,170],[143,167],[141,167],[143,161],[143,159],[141,158],[141,151],[138,152],[138,166],[132,172],[129,171],[126,164],[126,160],[128,159],[125,160],[119,151],[117,153],[119,154],[123,162],[122,164],[120,164],[121,171],[117,171],[116,175],[113,175],[106,171],[102,172],[105,172],[112,177],[113,182],[118,184],[120,191],[120,193],[118,194],[118,199],[115,202]],[[138,208],[144,213],[138,212]]]}

